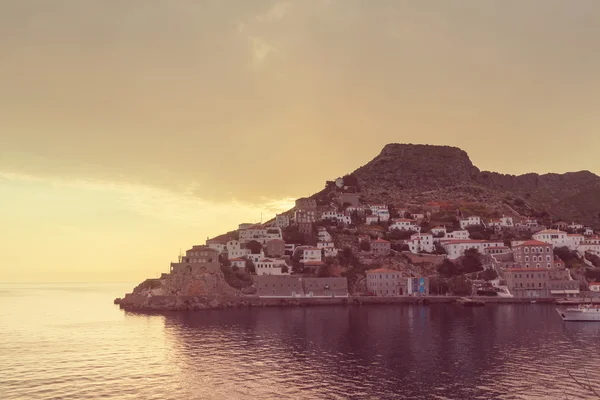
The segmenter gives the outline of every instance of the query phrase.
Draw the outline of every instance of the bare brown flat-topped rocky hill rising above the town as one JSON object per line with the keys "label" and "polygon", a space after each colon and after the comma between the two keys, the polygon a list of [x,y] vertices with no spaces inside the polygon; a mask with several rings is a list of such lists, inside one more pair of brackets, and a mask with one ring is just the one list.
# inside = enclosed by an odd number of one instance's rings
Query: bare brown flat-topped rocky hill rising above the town
{"label": "bare brown flat-topped rocky hill rising above the town", "polygon": [[505,175],[480,171],[456,147],[388,144],[353,175],[367,202],[399,206],[429,201],[480,203],[522,215],[600,225],[600,177],[589,171]]}

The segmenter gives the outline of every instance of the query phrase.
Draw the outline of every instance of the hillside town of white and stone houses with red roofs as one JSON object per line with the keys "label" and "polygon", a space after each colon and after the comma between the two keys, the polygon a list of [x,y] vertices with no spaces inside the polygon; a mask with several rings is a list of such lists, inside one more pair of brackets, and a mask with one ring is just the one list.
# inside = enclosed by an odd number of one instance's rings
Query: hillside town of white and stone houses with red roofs
{"label": "hillside town of white and stone houses with red roofs", "polygon": [[184,276],[222,273],[219,290],[260,298],[564,298],[599,293],[599,269],[600,236],[577,221],[522,216],[509,205],[366,202],[347,175],[270,221],[193,246],[161,277],[179,286],[145,293],[207,293],[218,279],[186,286]]}

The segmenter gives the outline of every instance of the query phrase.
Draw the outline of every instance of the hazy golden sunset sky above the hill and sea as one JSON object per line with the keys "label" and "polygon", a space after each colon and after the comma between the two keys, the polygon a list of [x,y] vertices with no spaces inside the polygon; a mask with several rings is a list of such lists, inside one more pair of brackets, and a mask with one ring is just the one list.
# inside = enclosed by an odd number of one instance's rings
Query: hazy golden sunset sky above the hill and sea
{"label": "hazy golden sunset sky above the hill and sea", "polygon": [[387,143],[600,173],[596,0],[0,1],[0,282],[139,281]]}

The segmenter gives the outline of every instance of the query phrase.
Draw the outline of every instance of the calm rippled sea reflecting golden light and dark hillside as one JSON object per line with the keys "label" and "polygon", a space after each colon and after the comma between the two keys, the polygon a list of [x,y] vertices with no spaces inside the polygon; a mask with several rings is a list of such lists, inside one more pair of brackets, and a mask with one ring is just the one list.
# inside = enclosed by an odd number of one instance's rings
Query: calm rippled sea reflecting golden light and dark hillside
{"label": "calm rippled sea reflecting golden light and dark hillside", "polygon": [[594,398],[600,324],[554,307],[137,315],[133,285],[0,285],[0,399]]}

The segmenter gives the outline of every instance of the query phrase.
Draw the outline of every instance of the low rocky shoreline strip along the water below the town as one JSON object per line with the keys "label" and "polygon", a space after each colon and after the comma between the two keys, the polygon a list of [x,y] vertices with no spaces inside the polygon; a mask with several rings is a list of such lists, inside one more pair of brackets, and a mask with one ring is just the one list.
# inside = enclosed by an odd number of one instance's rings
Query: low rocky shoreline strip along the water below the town
{"label": "low rocky shoreline strip along the water below the town", "polygon": [[[556,304],[556,298],[515,298],[485,296],[348,296],[322,298],[265,298],[258,296],[152,296],[127,294],[123,299],[115,299],[115,304],[125,311],[200,311],[206,309],[242,307],[312,307],[312,306],[363,306],[390,304],[457,304],[459,299],[469,299],[485,304]],[[581,298],[570,299],[573,303],[590,302]],[[596,302],[600,302],[600,299]],[[558,305],[558,304],[557,304]]]}

